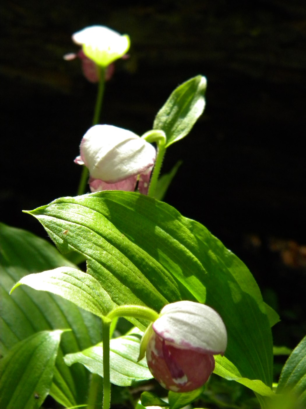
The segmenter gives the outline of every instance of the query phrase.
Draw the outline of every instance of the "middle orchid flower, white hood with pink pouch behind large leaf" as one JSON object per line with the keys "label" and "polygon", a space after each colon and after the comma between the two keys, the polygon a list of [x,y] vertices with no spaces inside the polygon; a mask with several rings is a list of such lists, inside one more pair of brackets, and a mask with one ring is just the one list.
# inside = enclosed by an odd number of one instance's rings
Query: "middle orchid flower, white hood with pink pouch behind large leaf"
{"label": "middle orchid flower, white hood with pink pouch behind large leaf", "polygon": [[111,125],[95,125],[83,136],[74,162],[89,169],[92,192],[134,191],[147,194],[155,148],[135,133]]}

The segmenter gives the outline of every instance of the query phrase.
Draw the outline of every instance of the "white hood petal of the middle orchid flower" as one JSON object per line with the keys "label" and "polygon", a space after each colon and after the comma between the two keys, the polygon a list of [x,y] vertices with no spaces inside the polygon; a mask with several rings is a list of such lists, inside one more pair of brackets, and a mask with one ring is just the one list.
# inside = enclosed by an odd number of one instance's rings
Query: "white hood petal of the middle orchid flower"
{"label": "white hood petal of the middle orchid flower", "polygon": [[84,135],[81,157],[92,178],[117,183],[143,173],[155,161],[155,148],[133,132],[95,125]]}

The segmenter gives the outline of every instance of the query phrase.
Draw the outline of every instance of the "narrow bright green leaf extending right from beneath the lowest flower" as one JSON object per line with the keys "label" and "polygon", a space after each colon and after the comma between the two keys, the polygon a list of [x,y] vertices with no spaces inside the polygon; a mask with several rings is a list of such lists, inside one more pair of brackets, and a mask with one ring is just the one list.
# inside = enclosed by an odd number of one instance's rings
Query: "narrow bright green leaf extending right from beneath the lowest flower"
{"label": "narrow bright green leaf extending right from beneath the lowest flower", "polygon": [[213,372],[227,380],[239,382],[261,396],[268,396],[270,398],[275,396],[272,389],[261,380],[242,377],[235,365],[226,357],[221,357],[220,355],[215,357],[215,370]]}

